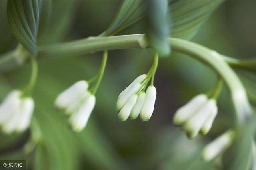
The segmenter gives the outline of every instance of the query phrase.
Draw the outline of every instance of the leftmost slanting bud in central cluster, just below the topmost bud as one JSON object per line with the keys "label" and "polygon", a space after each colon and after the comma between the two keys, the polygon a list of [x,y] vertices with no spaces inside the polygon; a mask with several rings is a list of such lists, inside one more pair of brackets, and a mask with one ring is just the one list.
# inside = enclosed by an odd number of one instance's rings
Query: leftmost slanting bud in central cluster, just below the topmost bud
{"label": "leftmost slanting bud in central cluster, just below the topmost bud", "polygon": [[134,85],[132,85],[130,89],[117,100],[116,111],[119,112],[122,109],[122,107],[124,107],[129,97],[137,93],[141,88],[142,88],[142,84],[140,83],[135,83]]}

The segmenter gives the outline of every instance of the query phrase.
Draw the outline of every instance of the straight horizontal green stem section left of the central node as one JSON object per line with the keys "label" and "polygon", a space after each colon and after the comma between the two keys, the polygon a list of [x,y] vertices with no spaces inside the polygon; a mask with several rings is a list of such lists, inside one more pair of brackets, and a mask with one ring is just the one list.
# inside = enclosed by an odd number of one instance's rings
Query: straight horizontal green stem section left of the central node
{"label": "straight horizontal green stem section left of the central node", "polygon": [[44,58],[85,55],[112,49],[146,48],[142,34],[126,36],[92,37],[62,44],[38,47],[38,56]]}

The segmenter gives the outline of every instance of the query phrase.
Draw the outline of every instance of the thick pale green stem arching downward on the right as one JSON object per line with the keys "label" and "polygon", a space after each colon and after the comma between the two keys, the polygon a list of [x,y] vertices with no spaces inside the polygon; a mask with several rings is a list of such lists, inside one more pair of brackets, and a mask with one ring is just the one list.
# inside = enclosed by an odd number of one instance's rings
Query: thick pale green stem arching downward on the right
{"label": "thick pale green stem arching downward on the right", "polygon": [[169,42],[174,51],[195,57],[218,72],[230,89],[232,101],[236,109],[237,124],[244,125],[252,114],[246,91],[236,73],[228,66],[220,54],[202,45],[178,38],[169,38]]}

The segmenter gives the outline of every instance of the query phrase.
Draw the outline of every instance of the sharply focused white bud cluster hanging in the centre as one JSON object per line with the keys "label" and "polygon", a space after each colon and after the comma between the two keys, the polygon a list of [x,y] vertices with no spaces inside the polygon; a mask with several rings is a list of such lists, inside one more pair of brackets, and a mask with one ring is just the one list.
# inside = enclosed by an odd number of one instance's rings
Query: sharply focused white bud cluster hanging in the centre
{"label": "sharply focused white bud cluster hanging in the centre", "polygon": [[148,82],[146,74],[137,77],[120,95],[116,102],[116,111],[120,121],[136,119],[139,115],[142,121],[148,121],[154,111],[156,88],[150,85],[146,93],[142,90]]}

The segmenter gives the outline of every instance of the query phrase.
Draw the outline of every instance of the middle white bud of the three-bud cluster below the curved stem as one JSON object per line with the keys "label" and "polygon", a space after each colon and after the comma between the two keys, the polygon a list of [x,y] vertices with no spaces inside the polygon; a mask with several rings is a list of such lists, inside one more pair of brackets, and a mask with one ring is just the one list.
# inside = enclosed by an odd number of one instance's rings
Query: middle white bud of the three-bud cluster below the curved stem
{"label": "middle white bud of the three-bud cluster below the curved stem", "polygon": [[194,138],[198,135],[200,128],[202,128],[207,118],[215,110],[215,107],[216,101],[214,99],[208,100],[184,123],[184,130],[186,130],[189,138]]}

